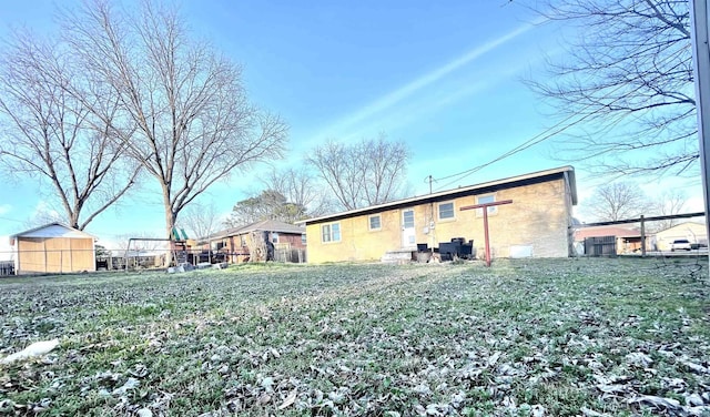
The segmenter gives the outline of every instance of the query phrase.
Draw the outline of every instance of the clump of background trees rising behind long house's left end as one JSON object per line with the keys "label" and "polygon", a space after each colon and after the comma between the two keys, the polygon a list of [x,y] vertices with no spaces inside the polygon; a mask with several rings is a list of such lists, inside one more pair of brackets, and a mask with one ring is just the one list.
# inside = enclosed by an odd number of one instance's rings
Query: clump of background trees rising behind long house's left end
{"label": "clump of background trees rising behind long house's left end", "polygon": [[302,167],[264,175],[262,190],[237,202],[225,223],[237,226],[265,218],[293,223],[404,197],[409,155],[404,142],[390,141],[384,133],[351,143],[328,140],[307,153]]}

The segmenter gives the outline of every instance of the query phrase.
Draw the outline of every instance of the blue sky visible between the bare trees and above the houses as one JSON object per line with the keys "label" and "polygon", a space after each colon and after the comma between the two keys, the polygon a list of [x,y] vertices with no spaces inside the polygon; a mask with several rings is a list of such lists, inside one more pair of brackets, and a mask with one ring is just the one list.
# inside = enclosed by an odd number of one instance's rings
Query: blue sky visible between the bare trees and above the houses
{"label": "blue sky visible between the bare trees and above the houses", "polygon": [[[6,2],[0,9],[0,34],[9,26],[52,30],[52,1]],[[328,138],[358,140],[385,132],[409,144],[409,185],[424,194],[426,176],[440,179],[489,162],[556,122],[521,80],[542,77],[544,57],[562,53],[564,30],[534,24],[535,16],[509,1],[203,0],[184,1],[182,11],[195,35],[242,63],[250,98],[291,125],[288,157],[277,166],[298,164]],[[554,155],[546,142],[434,187],[566,164]],[[263,169],[234,175],[202,202],[229,212],[254,190],[253,175]],[[577,170],[584,197],[597,183]],[[140,197],[104,213],[88,231],[104,238],[162,235],[160,193],[148,181]],[[657,185],[645,187],[652,193]],[[53,207],[36,181],[4,189],[0,235],[27,228],[32,213]],[[688,190],[696,204],[691,208],[702,207],[700,190],[698,184]]]}

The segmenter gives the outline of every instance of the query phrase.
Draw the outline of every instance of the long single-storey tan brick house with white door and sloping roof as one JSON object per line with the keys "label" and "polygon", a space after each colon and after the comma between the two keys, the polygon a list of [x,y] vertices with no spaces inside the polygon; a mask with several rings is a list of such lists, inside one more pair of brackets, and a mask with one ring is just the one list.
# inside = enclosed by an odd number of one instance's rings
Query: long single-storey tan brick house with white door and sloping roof
{"label": "long single-storey tan brick house with white door and sloping roof", "polygon": [[572,252],[571,210],[577,204],[571,166],[535,172],[344,213],[308,218],[308,262],[374,261],[390,251],[438,247],[463,237],[484,253],[483,210],[488,207],[494,257],[566,257]]}

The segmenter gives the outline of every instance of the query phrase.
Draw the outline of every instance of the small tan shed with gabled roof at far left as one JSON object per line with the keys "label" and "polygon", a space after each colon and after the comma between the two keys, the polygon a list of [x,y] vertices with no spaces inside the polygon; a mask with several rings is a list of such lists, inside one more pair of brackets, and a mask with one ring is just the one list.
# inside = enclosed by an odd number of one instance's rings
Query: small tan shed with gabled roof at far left
{"label": "small tan shed with gabled roof at far left", "polygon": [[14,234],[10,244],[17,275],[97,269],[94,236],[60,223]]}

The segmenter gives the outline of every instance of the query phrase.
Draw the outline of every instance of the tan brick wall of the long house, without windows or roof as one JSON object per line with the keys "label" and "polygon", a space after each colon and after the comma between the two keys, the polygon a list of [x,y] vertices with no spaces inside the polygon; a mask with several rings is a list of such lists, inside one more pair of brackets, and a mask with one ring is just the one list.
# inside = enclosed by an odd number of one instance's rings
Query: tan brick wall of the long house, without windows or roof
{"label": "tan brick wall of the long house, without windows or roof", "polygon": [[[511,246],[528,246],[534,257],[567,257],[572,244],[569,227],[572,203],[568,187],[568,182],[560,175],[555,180],[501,187],[490,193],[307,224],[308,262],[378,261],[387,251],[405,247],[402,215],[408,208],[414,210],[415,243],[438,247],[439,243],[450,242],[453,237],[464,237],[474,241],[480,257],[484,253],[483,212],[459,208],[478,204],[477,196],[484,195],[495,195],[495,201],[513,200],[513,204],[497,206],[496,213],[488,215],[494,258],[510,256]],[[454,218],[439,220],[438,205],[448,202],[454,203]],[[379,230],[369,230],[372,215],[381,216]],[[434,227],[430,227],[432,221]],[[324,243],[322,226],[333,223],[339,224],[341,241]]]}

